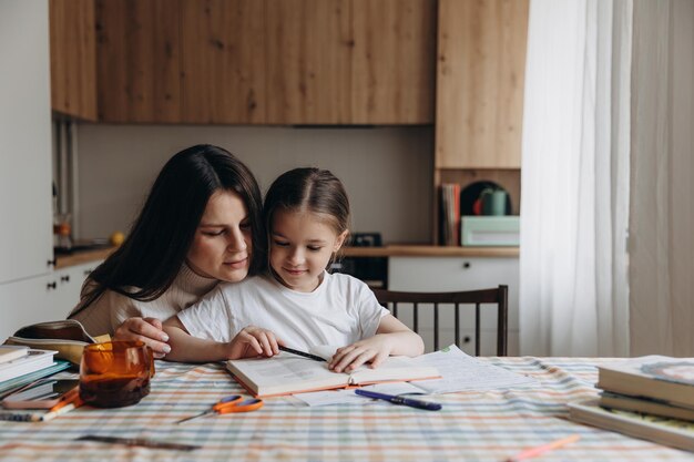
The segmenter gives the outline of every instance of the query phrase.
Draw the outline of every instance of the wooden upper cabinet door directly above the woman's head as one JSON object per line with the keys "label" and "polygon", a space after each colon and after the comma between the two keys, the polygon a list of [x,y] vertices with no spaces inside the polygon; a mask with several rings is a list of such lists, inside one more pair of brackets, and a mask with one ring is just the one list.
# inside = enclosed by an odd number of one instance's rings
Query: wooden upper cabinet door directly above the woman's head
{"label": "wooden upper cabinet door directly above the woman's head", "polygon": [[180,0],[184,122],[265,122],[265,3]]}

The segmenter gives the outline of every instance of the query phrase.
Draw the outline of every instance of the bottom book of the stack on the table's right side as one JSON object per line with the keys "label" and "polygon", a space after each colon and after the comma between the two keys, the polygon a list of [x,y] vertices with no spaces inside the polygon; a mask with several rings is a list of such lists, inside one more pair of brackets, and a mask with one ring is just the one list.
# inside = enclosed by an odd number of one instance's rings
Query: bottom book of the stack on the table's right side
{"label": "bottom book of the stack on the table's right side", "polygon": [[639,412],[604,409],[598,400],[569,403],[569,418],[605,430],[694,452],[694,423]]}

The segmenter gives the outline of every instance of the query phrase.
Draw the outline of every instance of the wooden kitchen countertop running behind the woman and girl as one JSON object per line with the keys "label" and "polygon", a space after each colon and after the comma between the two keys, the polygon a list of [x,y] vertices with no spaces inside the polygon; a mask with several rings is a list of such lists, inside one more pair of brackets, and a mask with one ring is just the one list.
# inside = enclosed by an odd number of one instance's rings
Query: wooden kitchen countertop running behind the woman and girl
{"label": "wooden kitchen countertop running behind the woman and girl", "polygon": [[[55,269],[83,263],[103,260],[116,247],[81,250],[55,257]],[[344,257],[518,257],[518,247],[446,247],[432,245],[398,244],[382,247],[345,247]]]}

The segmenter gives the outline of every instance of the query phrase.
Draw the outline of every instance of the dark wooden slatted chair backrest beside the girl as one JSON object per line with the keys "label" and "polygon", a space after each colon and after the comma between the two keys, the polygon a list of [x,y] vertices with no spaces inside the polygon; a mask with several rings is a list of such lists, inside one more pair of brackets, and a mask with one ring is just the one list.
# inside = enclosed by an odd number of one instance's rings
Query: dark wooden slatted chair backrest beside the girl
{"label": "dark wooden slatted chair backrest beside the girl", "polygon": [[[433,309],[433,349],[439,349],[439,305],[452,305],[455,309],[456,345],[461,347],[460,306],[474,305],[474,355],[480,355],[481,305],[497,305],[497,356],[507,356],[508,348],[508,286],[493,289],[467,290],[456,292],[410,292],[385,289],[372,289],[376,299],[388,308],[392,316],[398,317],[398,304],[412,307],[412,330],[419,333],[420,308]],[[420,307],[419,305],[425,305]]]}

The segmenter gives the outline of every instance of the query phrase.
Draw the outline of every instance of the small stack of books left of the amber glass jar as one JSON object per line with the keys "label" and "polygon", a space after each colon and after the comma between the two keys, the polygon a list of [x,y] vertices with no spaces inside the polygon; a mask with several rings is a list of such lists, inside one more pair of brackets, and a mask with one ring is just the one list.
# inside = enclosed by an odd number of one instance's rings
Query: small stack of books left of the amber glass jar
{"label": "small stack of books left of the amber glass jar", "polygon": [[54,361],[55,351],[0,345],[0,398],[32,381],[70,367]]}

